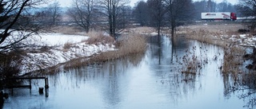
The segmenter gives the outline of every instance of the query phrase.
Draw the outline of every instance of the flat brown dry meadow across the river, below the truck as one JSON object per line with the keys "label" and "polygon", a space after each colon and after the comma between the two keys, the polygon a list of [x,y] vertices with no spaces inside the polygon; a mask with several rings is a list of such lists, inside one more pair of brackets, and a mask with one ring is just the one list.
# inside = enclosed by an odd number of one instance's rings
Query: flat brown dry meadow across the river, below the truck
{"label": "flat brown dry meadow across the river, below the truck", "polygon": [[232,35],[238,34],[238,29],[243,25],[188,25],[178,28],[178,36],[186,36],[190,39],[219,45],[229,48],[231,41],[227,40]]}

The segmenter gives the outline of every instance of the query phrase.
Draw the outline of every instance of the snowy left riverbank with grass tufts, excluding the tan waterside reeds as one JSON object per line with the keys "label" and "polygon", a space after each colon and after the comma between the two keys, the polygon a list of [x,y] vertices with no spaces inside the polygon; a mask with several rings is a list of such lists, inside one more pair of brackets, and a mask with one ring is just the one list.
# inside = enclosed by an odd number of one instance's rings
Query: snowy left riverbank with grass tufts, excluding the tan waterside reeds
{"label": "snowy left riverbank with grass tufts, excluding the tan waterside reeds", "polygon": [[28,42],[30,45],[36,44],[37,47],[23,49],[19,73],[21,76],[34,71],[48,73],[48,68],[57,67],[76,58],[117,50],[114,39],[108,36],[101,41],[95,41],[95,37],[86,35],[62,33],[40,33],[39,36],[32,37],[33,41]]}

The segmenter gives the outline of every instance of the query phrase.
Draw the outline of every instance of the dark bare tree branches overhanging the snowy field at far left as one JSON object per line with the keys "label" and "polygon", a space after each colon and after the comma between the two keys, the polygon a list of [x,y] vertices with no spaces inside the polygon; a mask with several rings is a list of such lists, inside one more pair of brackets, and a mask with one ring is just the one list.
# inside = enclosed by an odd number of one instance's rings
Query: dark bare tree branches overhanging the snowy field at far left
{"label": "dark bare tree branches overhanging the snowy field at far left", "polygon": [[[31,24],[30,14],[26,13],[30,7],[37,6],[43,0],[0,0],[0,50],[22,48],[26,44],[20,42],[31,34],[37,33],[38,26]],[[26,19],[23,19],[26,18]],[[14,34],[16,32],[16,34]]]}

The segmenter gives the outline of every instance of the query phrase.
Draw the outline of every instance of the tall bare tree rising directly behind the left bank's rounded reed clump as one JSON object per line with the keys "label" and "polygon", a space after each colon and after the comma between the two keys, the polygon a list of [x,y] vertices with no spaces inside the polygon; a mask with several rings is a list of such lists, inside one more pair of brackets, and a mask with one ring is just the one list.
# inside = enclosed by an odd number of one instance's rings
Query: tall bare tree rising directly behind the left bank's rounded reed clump
{"label": "tall bare tree rising directly behind the left bank's rounded reed clump", "polygon": [[99,0],[99,5],[102,7],[102,12],[108,19],[108,29],[110,36],[114,37],[118,31],[117,21],[118,18],[122,17],[120,11],[121,7],[126,6],[130,1],[129,0]]}

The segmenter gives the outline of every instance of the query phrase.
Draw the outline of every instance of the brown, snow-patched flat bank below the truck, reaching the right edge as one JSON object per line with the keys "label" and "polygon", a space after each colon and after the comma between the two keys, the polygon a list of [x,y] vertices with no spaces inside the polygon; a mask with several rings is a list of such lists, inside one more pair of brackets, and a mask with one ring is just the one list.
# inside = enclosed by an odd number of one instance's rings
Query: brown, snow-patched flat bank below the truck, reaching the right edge
{"label": "brown, snow-patched flat bank below the truck, reaching the right edge", "polygon": [[252,33],[239,33],[239,29],[246,29],[241,24],[211,24],[179,26],[177,34],[198,41],[206,41],[214,45],[238,45],[256,48],[256,36]]}

